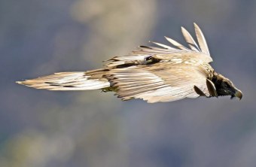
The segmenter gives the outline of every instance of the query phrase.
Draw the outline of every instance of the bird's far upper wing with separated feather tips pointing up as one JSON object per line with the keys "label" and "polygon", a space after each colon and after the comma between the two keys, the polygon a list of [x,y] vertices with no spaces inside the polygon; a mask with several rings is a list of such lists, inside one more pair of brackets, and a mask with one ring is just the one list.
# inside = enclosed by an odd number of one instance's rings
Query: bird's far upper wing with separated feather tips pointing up
{"label": "bird's far upper wing with separated feather tips pointing up", "polygon": [[181,27],[181,32],[184,36],[185,41],[187,42],[190,48],[184,47],[182,44],[179,44],[177,41],[165,37],[173,47],[167,46],[165,44],[160,44],[157,42],[152,42],[159,47],[145,47],[141,46],[138,50],[134,50],[128,56],[115,56],[112,59],[109,59],[105,66],[108,68],[113,68],[117,65],[125,65],[128,63],[134,64],[143,64],[145,58],[152,56],[156,59],[167,60],[167,59],[182,59],[184,56],[189,56],[189,59],[200,60],[201,62],[212,62],[212,57],[209,53],[209,48],[206,43],[206,38],[203,35],[200,27],[194,23],[194,29],[197,36],[197,42],[192,38],[189,32],[186,29]]}

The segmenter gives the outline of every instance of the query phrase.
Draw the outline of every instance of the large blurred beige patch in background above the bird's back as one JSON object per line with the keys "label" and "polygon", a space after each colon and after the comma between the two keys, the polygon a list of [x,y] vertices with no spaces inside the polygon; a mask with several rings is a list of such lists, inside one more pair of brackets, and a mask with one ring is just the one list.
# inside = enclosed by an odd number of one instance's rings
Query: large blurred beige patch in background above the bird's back
{"label": "large blurred beige patch in background above the bird's back", "polygon": [[130,53],[150,38],[157,17],[155,0],[78,0],[72,7],[74,20],[90,31],[84,39],[84,59],[100,63],[111,56]]}

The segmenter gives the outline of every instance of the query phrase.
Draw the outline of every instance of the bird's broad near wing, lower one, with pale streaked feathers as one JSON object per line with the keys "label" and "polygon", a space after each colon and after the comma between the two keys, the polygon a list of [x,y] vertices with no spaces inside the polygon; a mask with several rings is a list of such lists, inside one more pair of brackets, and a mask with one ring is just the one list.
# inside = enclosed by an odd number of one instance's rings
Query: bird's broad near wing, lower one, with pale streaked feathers
{"label": "bird's broad near wing, lower one, with pale streaked feathers", "polygon": [[118,97],[123,100],[135,98],[152,103],[197,98],[200,95],[194,86],[210,96],[207,77],[209,74],[203,66],[160,62],[151,66],[115,68],[108,78],[117,87]]}

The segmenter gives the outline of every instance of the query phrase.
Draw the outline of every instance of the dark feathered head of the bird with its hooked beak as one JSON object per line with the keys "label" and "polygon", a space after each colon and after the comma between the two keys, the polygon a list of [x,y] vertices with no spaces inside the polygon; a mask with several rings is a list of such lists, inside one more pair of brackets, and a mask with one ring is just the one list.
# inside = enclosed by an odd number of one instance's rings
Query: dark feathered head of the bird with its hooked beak
{"label": "dark feathered head of the bird with its hooked beak", "polygon": [[234,97],[242,99],[242,91],[238,90],[227,77],[216,73],[212,78],[212,82],[215,83],[218,96],[231,96],[230,99]]}

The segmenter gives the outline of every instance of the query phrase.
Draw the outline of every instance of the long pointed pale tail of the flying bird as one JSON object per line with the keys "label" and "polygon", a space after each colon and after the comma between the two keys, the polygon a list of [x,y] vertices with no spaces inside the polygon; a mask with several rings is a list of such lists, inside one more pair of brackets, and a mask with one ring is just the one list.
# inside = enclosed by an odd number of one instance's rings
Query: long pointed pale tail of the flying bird
{"label": "long pointed pale tail of the flying bird", "polygon": [[104,78],[90,79],[85,72],[59,72],[32,80],[17,81],[19,84],[45,90],[99,90],[110,87]]}

